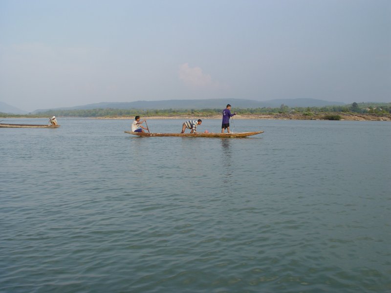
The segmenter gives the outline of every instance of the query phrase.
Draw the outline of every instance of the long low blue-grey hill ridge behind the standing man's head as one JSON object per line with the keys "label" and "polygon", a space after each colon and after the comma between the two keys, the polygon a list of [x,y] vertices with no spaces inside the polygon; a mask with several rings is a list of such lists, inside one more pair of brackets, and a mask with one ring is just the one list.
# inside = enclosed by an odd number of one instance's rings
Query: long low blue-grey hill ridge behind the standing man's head
{"label": "long low blue-grey hill ridge behind the standing man's head", "polygon": [[231,104],[233,108],[279,107],[282,104],[289,107],[321,107],[328,105],[345,105],[340,102],[329,102],[316,99],[278,99],[269,101],[254,101],[244,99],[208,99],[208,100],[164,100],[136,102],[102,102],[67,108],[39,109],[32,112],[37,114],[48,110],[88,110],[98,108],[112,109],[218,109]]}

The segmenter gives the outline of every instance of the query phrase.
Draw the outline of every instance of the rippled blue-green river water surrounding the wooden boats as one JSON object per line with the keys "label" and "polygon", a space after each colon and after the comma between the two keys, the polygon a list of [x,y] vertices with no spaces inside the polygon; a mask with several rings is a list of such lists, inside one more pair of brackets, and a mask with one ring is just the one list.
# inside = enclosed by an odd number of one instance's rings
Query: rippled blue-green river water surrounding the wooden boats
{"label": "rippled blue-green river water surrounding the wooden boats", "polygon": [[58,120],[0,129],[0,292],[391,292],[389,122]]}

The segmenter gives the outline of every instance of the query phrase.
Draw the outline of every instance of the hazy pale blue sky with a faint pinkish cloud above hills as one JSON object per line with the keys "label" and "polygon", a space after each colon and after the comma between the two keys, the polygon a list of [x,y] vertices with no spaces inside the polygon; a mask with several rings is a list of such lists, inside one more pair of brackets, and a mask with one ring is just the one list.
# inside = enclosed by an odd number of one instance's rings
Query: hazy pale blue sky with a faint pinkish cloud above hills
{"label": "hazy pale blue sky with a faint pinkish cloud above hills", "polygon": [[390,0],[0,0],[0,101],[391,102]]}

